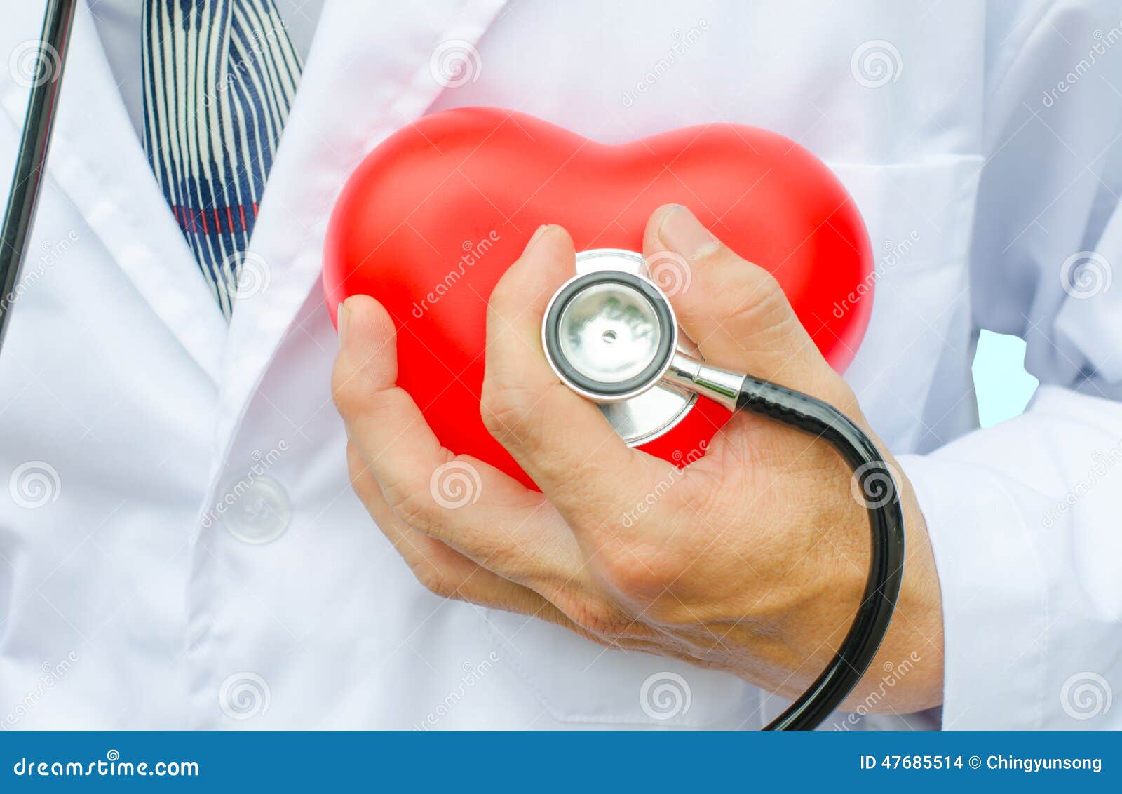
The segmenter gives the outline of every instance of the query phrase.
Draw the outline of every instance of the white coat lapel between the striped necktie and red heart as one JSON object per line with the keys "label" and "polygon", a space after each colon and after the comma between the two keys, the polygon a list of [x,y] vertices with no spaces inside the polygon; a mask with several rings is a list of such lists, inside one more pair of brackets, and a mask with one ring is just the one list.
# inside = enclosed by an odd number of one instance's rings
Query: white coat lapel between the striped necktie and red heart
{"label": "white coat lapel between the striped necktie and red heart", "polygon": [[[324,6],[239,277],[220,440],[232,436],[285,335],[329,322],[319,292],[323,240],[348,174],[439,95],[442,86],[430,67],[434,50],[442,43],[475,43],[502,6],[503,0]],[[241,280],[247,278],[252,280]]]}

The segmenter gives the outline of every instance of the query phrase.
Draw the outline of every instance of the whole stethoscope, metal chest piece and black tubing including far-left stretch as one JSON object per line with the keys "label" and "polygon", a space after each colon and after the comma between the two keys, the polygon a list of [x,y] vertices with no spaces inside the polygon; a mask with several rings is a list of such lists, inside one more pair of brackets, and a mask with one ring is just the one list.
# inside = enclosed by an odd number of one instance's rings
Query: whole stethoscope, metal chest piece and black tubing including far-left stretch
{"label": "whole stethoscope, metal chest piece and black tubing including far-left stretch", "polygon": [[[48,0],[8,207],[0,229],[0,347],[35,221],[66,62],[75,0]],[[569,388],[600,406],[632,445],[668,432],[698,396],[797,427],[830,444],[866,496],[872,528],[868,579],[857,615],[830,664],[767,730],[809,730],[849,694],[876,655],[900,593],[903,515],[892,474],[859,427],[830,405],[778,384],[705,363],[679,334],[670,301],[644,275],[643,257],[599,249],[577,258],[578,275],[553,295],[542,344]],[[583,270],[583,271],[581,271]]]}

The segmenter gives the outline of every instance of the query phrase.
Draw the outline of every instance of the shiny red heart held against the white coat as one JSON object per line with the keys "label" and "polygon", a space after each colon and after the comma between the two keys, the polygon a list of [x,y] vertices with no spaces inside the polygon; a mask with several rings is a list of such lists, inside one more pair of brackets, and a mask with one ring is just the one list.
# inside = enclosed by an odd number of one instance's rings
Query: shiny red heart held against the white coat
{"label": "shiny red heart held against the white coat", "polygon": [[[328,306],[373,295],[397,323],[397,382],[449,449],[531,484],[484,427],[486,306],[542,223],[577,250],[642,250],[661,204],[689,206],[771,270],[826,359],[843,369],[871,310],[872,251],[853,200],[813,155],[773,132],[690,127],[605,146],[495,108],[427,116],[359,165],[328,229]],[[855,299],[863,295],[863,299]],[[699,400],[642,449],[682,461],[728,414]]]}

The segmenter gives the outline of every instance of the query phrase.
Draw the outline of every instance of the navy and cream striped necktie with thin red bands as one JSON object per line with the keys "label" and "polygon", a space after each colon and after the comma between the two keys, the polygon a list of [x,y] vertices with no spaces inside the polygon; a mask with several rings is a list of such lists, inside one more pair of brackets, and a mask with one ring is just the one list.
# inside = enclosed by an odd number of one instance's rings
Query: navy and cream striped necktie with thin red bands
{"label": "navy and cream striped necktie with thin red bands", "polygon": [[145,0],[144,145],[230,318],[300,56],[273,0]]}

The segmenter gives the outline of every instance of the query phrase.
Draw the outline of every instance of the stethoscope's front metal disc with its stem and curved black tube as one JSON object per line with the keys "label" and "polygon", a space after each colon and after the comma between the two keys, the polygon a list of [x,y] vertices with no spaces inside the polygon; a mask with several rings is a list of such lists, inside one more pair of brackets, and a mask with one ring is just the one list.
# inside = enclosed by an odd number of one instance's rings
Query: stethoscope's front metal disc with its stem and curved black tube
{"label": "stethoscope's front metal disc with its stem and curved black tube", "polygon": [[[613,262],[628,252],[585,251]],[[637,253],[631,253],[642,261]],[[563,284],[542,320],[545,357],[558,377],[603,405],[673,388],[729,410],[767,417],[821,438],[853,470],[868,510],[872,551],[857,615],[818,678],[765,730],[810,730],[848,696],[888,634],[903,576],[904,521],[896,484],[876,445],[845,414],[820,399],[743,372],[710,367],[679,348],[665,295],[642,275],[606,267]]]}

